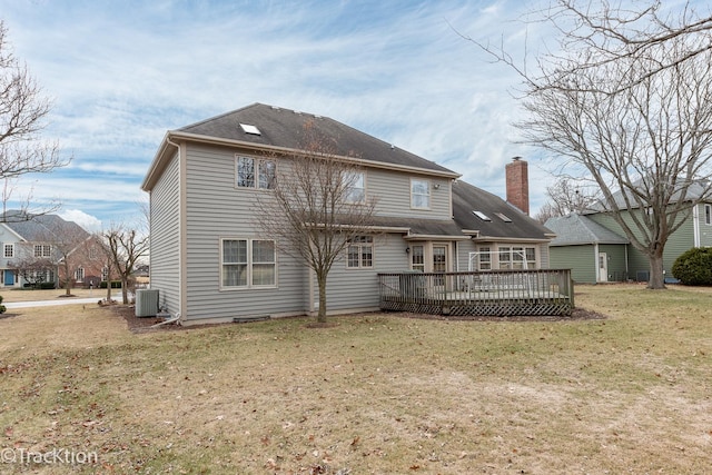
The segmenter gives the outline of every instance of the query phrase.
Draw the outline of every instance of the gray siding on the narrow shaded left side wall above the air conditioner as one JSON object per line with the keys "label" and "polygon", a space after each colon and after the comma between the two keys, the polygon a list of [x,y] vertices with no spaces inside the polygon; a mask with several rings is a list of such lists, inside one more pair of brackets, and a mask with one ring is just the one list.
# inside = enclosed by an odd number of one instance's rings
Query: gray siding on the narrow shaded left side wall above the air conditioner
{"label": "gray siding on the narrow shaded left side wall above the air conditioner", "polygon": [[150,278],[159,305],[180,310],[180,160],[178,154],[150,195]]}

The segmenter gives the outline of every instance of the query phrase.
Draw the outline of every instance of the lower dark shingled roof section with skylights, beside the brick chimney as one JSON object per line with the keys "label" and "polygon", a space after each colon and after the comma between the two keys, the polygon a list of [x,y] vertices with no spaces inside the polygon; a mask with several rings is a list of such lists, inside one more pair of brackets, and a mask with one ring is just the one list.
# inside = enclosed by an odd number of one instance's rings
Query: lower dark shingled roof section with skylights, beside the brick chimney
{"label": "lower dark shingled roof section with skylights, beside the brick chimney", "polygon": [[477,231],[479,238],[547,240],[552,235],[498,196],[461,180],[453,182],[453,215],[462,229]]}

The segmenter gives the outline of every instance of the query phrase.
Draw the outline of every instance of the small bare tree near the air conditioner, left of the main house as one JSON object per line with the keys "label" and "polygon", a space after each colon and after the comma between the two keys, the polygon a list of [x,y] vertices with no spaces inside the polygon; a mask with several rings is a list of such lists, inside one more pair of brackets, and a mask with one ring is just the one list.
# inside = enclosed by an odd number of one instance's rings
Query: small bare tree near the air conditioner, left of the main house
{"label": "small bare tree near the air conditioner, left of the main house", "polygon": [[[131,273],[136,263],[141,256],[148,253],[149,240],[147,235],[141,235],[136,229],[128,229],[125,226],[116,225],[103,231],[106,249],[110,261],[109,269],[117,271],[121,279],[121,298],[123,305],[129,303],[128,291],[131,280]],[[110,276],[109,276],[110,277]],[[111,280],[107,281],[111,287]],[[110,298],[111,290],[107,290],[107,298]]]}

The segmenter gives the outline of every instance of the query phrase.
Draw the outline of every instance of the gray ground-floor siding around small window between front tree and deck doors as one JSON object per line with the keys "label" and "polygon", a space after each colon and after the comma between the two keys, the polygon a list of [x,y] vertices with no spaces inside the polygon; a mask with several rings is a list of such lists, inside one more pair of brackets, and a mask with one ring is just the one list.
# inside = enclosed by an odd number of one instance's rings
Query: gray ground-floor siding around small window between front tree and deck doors
{"label": "gray ground-floor siding around small window between front tree and deck doors", "polygon": [[[378,273],[402,273],[409,268],[400,235],[374,236],[374,267],[349,269],[344,257],[334,263],[326,280],[327,311],[378,308]],[[314,279],[314,303],[319,301]],[[316,308],[315,308],[316,310]]]}

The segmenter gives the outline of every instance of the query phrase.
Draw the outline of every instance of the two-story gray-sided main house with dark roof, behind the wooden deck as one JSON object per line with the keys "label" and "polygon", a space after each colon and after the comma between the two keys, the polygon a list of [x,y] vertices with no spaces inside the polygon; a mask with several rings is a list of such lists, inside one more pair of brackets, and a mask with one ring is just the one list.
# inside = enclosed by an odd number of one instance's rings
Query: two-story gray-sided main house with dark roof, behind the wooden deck
{"label": "two-story gray-sided main house with dark roof, behind the wooden deck", "polygon": [[[333,119],[256,103],[168,131],[144,180],[150,287],[182,324],[317,309],[313,273],[255,224],[255,201],[270,180],[246,179],[288,160],[307,121],[334,138],[339,157],[358,157],[359,192],[377,198],[374,234],[329,273],[330,314],[377,309],[378,273],[547,268],[548,230],[457,172]],[[233,278],[235,266],[247,277]]]}

